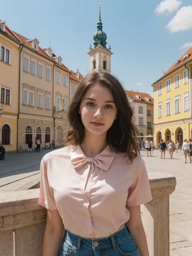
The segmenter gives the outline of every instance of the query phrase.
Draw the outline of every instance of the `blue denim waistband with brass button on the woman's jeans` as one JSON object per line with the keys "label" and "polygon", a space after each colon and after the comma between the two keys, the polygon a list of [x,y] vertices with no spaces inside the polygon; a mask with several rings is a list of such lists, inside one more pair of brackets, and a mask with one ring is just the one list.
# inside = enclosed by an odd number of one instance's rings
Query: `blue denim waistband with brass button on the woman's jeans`
{"label": "blue denim waistband with brass button on the woman's jeans", "polygon": [[70,241],[73,245],[76,245],[76,250],[79,251],[80,247],[94,248],[98,247],[99,249],[106,248],[108,246],[113,246],[113,249],[116,249],[116,244],[119,243],[122,239],[125,239],[130,234],[127,225],[124,226],[122,230],[119,230],[117,233],[104,238],[83,238],[79,237],[69,231],[66,231],[64,240]]}

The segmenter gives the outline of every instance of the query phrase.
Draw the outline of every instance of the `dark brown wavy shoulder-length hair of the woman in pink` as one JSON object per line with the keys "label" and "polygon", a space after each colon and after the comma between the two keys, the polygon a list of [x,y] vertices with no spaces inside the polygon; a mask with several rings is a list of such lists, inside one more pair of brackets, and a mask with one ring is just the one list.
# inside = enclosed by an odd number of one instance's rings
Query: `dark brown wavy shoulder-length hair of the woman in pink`
{"label": "dark brown wavy shoulder-length hair of the woman in pink", "polygon": [[117,106],[117,119],[107,131],[107,143],[111,149],[126,153],[132,161],[134,157],[140,155],[137,143],[139,132],[132,122],[133,111],[120,81],[103,71],[89,73],[77,87],[68,109],[70,126],[65,134],[66,145],[78,145],[84,142],[85,131],[79,107],[85,92],[97,83],[109,88]]}

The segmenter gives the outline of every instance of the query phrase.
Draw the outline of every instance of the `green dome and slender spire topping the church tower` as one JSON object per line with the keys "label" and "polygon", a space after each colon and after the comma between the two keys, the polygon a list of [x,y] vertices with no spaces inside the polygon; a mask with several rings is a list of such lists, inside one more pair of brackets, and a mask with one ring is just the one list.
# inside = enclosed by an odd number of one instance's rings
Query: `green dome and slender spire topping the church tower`
{"label": "green dome and slender spire topping the church tower", "polygon": [[94,39],[94,45],[95,47],[98,46],[98,41],[100,41],[102,47],[106,47],[107,45],[107,35],[105,34],[105,32],[102,31],[102,22],[101,22],[101,6],[100,6],[100,0],[99,0],[99,20],[97,23],[97,32],[94,34],[93,36]]}

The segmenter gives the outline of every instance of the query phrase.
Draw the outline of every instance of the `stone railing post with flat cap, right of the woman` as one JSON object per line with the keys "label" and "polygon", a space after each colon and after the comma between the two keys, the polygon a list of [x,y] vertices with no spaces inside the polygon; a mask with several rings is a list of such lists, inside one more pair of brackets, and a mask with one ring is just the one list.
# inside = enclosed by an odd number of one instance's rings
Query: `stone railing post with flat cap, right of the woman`
{"label": "stone railing post with flat cap, right of the woman", "polygon": [[153,200],[141,206],[150,256],[169,256],[169,195],[176,179],[167,173],[148,173]]}

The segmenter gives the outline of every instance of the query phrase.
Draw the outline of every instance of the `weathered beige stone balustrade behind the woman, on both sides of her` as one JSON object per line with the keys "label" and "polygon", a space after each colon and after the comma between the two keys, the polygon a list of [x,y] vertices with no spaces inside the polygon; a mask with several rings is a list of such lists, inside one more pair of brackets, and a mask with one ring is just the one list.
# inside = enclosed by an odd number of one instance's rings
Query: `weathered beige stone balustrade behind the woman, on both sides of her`
{"label": "weathered beige stone balustrade behind the woman, on both sides of her", "polygon": [[[149,173],[153,200],[141,206],[150,256],[169,256],[169,195],[175,177]],[[39,189],[0,194],[0,256],[42,256],[46,210]]]}

